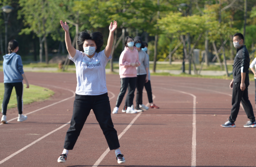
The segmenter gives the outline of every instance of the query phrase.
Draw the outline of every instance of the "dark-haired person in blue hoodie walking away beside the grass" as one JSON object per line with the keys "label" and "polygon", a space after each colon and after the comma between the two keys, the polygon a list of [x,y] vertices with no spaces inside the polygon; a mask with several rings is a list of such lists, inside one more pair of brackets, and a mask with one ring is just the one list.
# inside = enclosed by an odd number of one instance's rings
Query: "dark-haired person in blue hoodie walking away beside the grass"
{"label": "dark-haired person in blue hoodie walking away beside the grass", "polygon": [[22,114],[23,110],[23,79],[26,81],[26,88],[29,88],[28,80],[23,71],[23,65],[21,56],[17,55],[16,52],[19,50],[18,42],[16,40],[10,40],[8,44],[8,54],[3,56],[3,73],[4,73],[4,86],[5,93],[3,96],[2,104],[2,124],[7,124],[6,111],[7,105],[10,100],[13,87],[16,90],[17,106],[18,106],[18,120],[19,122],[25,121],[27,116]]}

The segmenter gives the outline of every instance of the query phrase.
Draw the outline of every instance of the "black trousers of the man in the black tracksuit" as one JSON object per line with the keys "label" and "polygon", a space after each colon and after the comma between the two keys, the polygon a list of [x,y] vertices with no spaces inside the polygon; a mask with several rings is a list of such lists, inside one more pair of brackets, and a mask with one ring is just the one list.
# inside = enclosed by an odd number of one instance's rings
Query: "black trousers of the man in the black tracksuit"
{"label": "black trousers of the man in the black tracksuit", "polygon": [[240,109],[240,102],[241,102],[248,119],[250,119],[251,122],[254,122],[255,116],[253,114],[253,107],[251,106],[251,102],[248,97],[249,83],[246,83],[246,89],[244,91],[240,89],[240,84],[241,84],[240,82],[233,83],[232,109],[231,109],[231,115],[229,117],[229,121],[235,122]]}

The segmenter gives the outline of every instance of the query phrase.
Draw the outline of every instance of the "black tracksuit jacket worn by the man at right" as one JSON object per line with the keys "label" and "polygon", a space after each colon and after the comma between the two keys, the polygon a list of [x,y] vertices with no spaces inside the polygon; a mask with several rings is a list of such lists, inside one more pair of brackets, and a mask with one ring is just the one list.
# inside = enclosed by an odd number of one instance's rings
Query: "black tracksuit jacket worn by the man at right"
{"label": "black tracksuit jacket worn by the man at right", "polygon": [[241,82],[241,73],[246,73],[245,83],[249,83],[250,57],[245,45],[237,49],[233,64],[234,82]]}

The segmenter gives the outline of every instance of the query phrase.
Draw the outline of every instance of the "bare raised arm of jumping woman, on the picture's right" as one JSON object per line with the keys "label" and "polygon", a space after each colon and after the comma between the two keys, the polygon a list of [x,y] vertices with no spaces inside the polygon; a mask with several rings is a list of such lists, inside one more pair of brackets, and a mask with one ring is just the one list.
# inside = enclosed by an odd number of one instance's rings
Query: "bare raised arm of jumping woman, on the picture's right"
{"label": "bare raised arm of jumping woman, on the picture's right", "polygon": [[117,23],[114,20],[114,22],[113,23],[111,22],[109,25],[109,38],[108,38],[107,46],[104,50],[104,53],[107,56],[107,58],[109,58],[112,51],[112,46],[114,41],[114,31],[116,30],[116,28],[117,28]]}

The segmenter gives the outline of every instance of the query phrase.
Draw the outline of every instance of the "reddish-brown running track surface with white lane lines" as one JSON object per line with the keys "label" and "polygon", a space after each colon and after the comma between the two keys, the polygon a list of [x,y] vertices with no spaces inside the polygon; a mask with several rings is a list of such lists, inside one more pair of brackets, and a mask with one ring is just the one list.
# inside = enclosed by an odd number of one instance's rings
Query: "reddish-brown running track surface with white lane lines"
{"label": "reddish-brown running track surface with white lane lines", "polygon": [[[248,121],[243,109],[236,128],[220,127],[230,115],[228,80],[151,76],[154,103],[160,109],[141,114],[126,114],[120,109],[112,114],[122,135],[119,142],[126,163],[117,164],[114,151],[103,155],[108,146],[91,112],[67,162],[60,164],[57,158],[72,116],[75,73],[27,72],[26,76],[30,84],[47,87],[55,94],[49,100],[25,105],[27,121],[17,122],[17,109],[8,110],[9,124],[0,124],[1,167],[256,167],[256,128],[243,128]],[[106,78],[113,109],[120,79],[118,75]],[[251,82],[253,107],[254,92]],[[143,103],[147,102],[143,94]]]}

